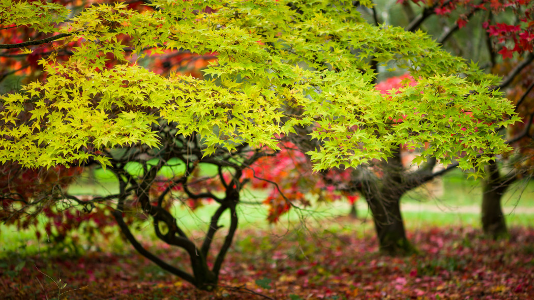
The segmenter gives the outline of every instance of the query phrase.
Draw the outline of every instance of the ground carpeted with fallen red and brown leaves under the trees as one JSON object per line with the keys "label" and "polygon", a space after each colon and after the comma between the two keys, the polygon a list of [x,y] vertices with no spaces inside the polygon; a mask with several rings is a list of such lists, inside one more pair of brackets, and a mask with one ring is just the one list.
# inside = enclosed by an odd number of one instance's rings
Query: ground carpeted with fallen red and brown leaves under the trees
{"label": "ground carpeted with fallen red and brown leaves under the trees", "polygon": [[[509,240],[475,228],[409,232],[410,257],[378,254],[372,232],[239,231],[214,293],[161,271],[136,252],[0,260],[4,299],[534,299],[534,228]],[[220,241],[219,241],[220,242]],[[158,242],[175,265],[188,258]]]}

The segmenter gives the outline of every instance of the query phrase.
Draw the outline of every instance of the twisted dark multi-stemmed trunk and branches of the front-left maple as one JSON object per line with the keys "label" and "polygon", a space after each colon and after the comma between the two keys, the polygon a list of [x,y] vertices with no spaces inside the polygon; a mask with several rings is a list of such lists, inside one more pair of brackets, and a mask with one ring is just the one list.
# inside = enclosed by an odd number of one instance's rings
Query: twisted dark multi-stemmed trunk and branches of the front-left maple
{"label": "twisted dark multi-stemmed trunk and branches of the front-left maple", "polygon": [[[242,176],[243,171],[255,160],[266,155],[265,151],[252,151],[246,145],[241,145],[231,153],[225,149],[217,149],[211,156],[203,156],[203,146],[197,135],[187,138],[175,136],[172,126],[160,127],[157,130],[161,142],[158,148],[139,146],[107,152],[111,157],[108,169],[119,180],[119,193],[113,196],[116,202],[113,217],[122,233],[140,254],[198,288],[214,289],[238,226],[236,207],[239,204],[240,191],[246,184],[246,179]],[[132,162],[137,163],[142,170],[140,175],[134,175],[127,170],[127,165]],[[217,168],[214,178],[199,175],[199,168],[206,164]],[[177,166],[183,170],[178,171],[175,176],[158,176],[162,168],[176,169]],[[222,195],[216,193],[221,191]],[[106,201],[109,200],[112,199],[107,196]],[[201,200],[214,201],[218,208],[207,222],[205,237],[198,246],[195,240],[186,234],[182,228],[184,225],[177,222],[172,208],[176,202],[186,201],[195,207]],[[209,259],[215,234],[223,227],[219,224],[219,219],[225,211],[229,211],[230,215],[227,232],[222,245],[215,251],[214,258]],[[150,249],[143,247],[124,220],[124,215],[132,212],[150,216],[155,235],[161,241],[185,250],[190,257],[192,273],[164,262]]]}

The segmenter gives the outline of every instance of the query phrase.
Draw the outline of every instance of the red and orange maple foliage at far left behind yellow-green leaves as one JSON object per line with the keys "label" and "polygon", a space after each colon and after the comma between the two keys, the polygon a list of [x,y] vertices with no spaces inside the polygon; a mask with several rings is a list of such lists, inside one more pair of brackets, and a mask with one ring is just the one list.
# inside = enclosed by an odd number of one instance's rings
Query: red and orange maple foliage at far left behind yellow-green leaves
{"label": "red and orange maple foliage at far left behind yellow-green leaves", "polygon": [[[109,4],[114,1],[92,1],[92,0],[57,0],[54,4],[61,4],[74,15],[81,13],[84,9],[92,5]],[[16,2],[13,2],[16,3]],[[143,5],[144,1],[128,2],[127,8],[137,12],[151,11],[151,6]],[[3,7],[7,10],[10,2],[5,2]],[[57,7],[57,6],[55,6]],[[54,5],[36,5],[27,7],[30,10],[25,12],[29,17],[35,13],[54,12]],[[209,10],[209,7],[206,8]],[[49,15],[42,14],[41,21],[57,18],[53,13]],[[76,47],[81,46],[81,40],[70,40],[68,42],[46,42],[46,38],[50,38],[46,28],[35,26],[4,26],[0,29],[0,43],[4,44],[4,50],[0,53],[0,94],[5,92],[15,92],[20,87],[28,82],[46,79],[46,72],[43,72],[43,66],[38,63],[38,60],[53,59],[57,62],[63,62],[69,59],[74,54]],[[42,30],[42,31],[40,31]],[[53,37],[53,41],[56,37]],[[44,40],[44,41],[43,41]],[[32,51],[20,51],[20,43],[24,41],[34,42]],[[123,36],[123,41],[127,44],[129,37]],[[158,57],[143,59],[149,49],[141,49],[138,53],[133,53],[135,48],[125,46],[122,49],[125,55],[131,56],[140,54],[138,61],[143,64],[150,65],[152,72],[168,76],[169,73],[177,72],[183,75],[191,75],[195,78],[201,78],[200,70],[206,67],[214,57],[209,53],[200,55],[191,53],[190,51],[167,51]],[[116,64],[120,64],[117,58],[112,53],[105,54],[105,67],[111,68]],[[19,120],[24,120],[30,117],[29,115],[20,115]],[[73,183],[74,179],[80,179],[81,172],[88,173],[91,177],[93,170],[98,168],[98,163],[91,164],[84,163],[84,167],[66,167],[56,165],[53,168],[35,168],[27,169],[21,168],[17,163],[6,163],[2,165],[0,176],[2,183],[3,207],[2,211],[3,222],[7,224],[15,224],[19,228],[27,228],[36,225],[37,218],[35,215],[42,212],[45,218],[39,218],[40,222],[44,222],[43,230],[35,230],[37,239],[45,238],[43,242],[48,241],[50,246],[58,248],[58,246],[66,246],[69,250],[78,252],[77,234],[73,232],[83,232],[92,239],[92,236],[98,232],[100,236],[106,239],[112,235],[115,226],[113,219],[110,219],[110,208],[107,206],[99,206],[98,209],[91,207],[83,207],[83,209],[74,209],[69,203],[64,203],[61,206],[42,207],[42,210],[28,210],[27,207],[12,206],[13,200],[21,203],[30,199],[49,199],[49,204],[56,203],[52,199],[61,199],[69,184]],[[95,179],[95,178],[91,178]],[[93,181],[91,181],[93,182]],[[25,200],[22,200],[25,199]],[[41,201],[42,202],[42,201]],[[30,203],[33,203],[30,201]],[[134,219],[128,219],[128,224],[131,224]],[[92,222],[90,222],[92,221]],[[44,234],[43,234],[44,233]]]}

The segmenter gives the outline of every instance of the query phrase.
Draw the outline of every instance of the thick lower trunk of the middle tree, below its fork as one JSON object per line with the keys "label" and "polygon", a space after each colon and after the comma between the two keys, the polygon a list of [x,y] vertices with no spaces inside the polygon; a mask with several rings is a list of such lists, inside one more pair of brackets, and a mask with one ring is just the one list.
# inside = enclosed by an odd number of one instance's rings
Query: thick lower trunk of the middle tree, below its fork
{"label": "thick lower trunk of the middle tree, below its fork", "polygon": [[367,197],[373,213],[380,251],[391,256],[414,253],[415,248],[406,238],[404,222],[400,214],[400,196],[380,194],[383,196],[375,194]]}

